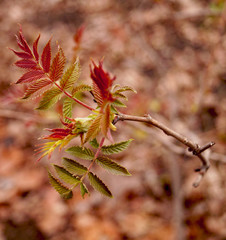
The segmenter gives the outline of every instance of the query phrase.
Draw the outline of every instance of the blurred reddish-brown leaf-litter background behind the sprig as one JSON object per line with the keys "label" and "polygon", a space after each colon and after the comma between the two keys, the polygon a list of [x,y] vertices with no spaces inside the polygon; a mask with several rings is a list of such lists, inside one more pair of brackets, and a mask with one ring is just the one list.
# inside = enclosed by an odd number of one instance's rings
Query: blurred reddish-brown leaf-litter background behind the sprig
{"label": "blurred reddish-brown leaf-litter background behind the sprig", "polygon": [[[0,1],[0,240],[226,239],[226,6],[224,0],[1,0]],[[211,149],[211,168],[197,189],[197,158],[161,131],[117,124],[116,141],[134,138],[114,158],[132,177],[97,168],[113,199],[91,191],[64,201],[48,182],[50,160],[36,162],[37,139],[57,126],[58,113],[17,101],[21,75],[15,34],[29,44],[52,37],[70,61],[73,36],[85,26],[81,79],[90,82],[90,58],[104,57],[116,83],[134,87],[122,112],[151,114]],[[92,102],[88,94],[84,101]],[[80,107],[74,117],[84,116]],[[62,153],[51,159],[59,162]],[[51,162],[52,162],[51,161]]]}

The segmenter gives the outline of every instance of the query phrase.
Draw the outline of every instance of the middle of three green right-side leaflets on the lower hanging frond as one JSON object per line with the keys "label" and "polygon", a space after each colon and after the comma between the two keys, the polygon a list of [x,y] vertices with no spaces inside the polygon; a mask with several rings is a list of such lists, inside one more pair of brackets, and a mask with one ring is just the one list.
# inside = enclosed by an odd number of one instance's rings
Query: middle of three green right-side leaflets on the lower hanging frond
{"label": "middle of three green right-side leaflets on the lower hanging frond", "polygon": [[131,174],[128,172],[126,168],[119,165],[118,163],[114,162],[110,158],[107,157],[98,157],[96,159],[96,162],[109,172],[116,174],[116,175],[124,175],[124,176],[130,176]]}

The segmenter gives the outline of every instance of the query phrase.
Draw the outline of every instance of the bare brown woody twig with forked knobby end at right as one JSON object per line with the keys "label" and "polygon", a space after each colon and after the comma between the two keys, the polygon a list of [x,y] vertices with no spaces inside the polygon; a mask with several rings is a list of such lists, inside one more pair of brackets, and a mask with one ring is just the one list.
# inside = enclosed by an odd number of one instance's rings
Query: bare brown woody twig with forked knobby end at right
{"label": "bare brown woody twig with forked knobby end at right", "polygon": [[115,117],[113,124],[116,124],[118,121],[135,121],[135,122],[144,122],[144,123],[150,124],[152,126],[155,126],[156,128],[161,129],[166,135],[177,139],[179,142],[187,146],[188,150],[192,152],[193,155],[197,156],[202,162],[202,166],[198,169],[195,169],[196,172],[199,172],[199,176],[197,177],[196,181],[193,183],[194,187],[199,186],[203,176],[205,175],[205,173],[210,167],[209,159],[203,155],[203,152],[209,149],[210,147],[212,147],[215,144],[214,142],[209,142],[201,147],[199,146],[199,144],[194,143],[187,137],[181,135],[180,133],[175,132],[174,130],[168,128],[164,124],[158,122],[157,120],[152,118],[150,115],[146,115],[144,117],[138,117],[138,116],[131,116],[131,115],[120,113]]}

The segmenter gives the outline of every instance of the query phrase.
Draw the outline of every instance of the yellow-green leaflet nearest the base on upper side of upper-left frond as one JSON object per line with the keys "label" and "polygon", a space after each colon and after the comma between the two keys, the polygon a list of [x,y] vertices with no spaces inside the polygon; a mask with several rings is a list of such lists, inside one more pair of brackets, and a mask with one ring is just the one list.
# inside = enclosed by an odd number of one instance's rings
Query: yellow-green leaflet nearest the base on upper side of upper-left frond
{"label": "yellow-green leaflet nearest the base on upper side of upper-left frond", "polygon": [[74,83],[79,79],[80,73],[81,68],[79,64],[79,59],[77,58],[76,61],[64,73],[63,77],[60,80],[60,86],[64,90],[71,88]]}

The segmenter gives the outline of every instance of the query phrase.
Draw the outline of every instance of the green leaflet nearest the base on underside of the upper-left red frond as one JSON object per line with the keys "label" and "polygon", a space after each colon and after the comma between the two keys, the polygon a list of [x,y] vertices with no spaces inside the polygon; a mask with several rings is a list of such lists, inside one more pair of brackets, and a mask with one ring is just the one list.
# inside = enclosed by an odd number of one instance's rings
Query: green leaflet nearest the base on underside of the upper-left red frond
{"label": "green leaflet nearest the base on underside of the upper-left red frond", "polygon": [[46,91],[37,109],[45,110],[52,107],[59,100],[61,94],[61,90],[57,87],[53,87],[50,90]]}

